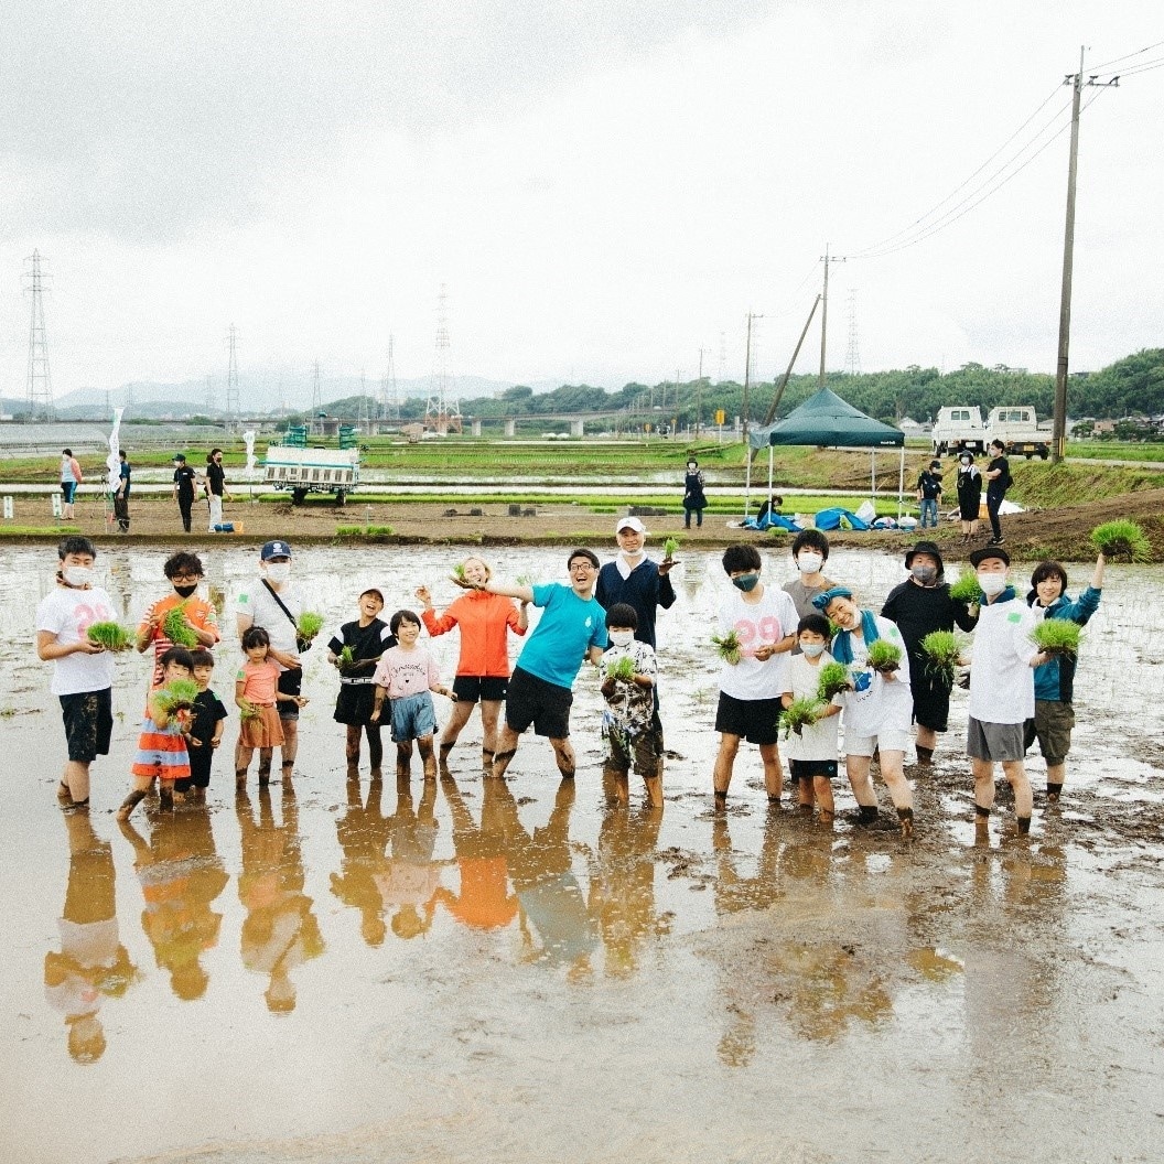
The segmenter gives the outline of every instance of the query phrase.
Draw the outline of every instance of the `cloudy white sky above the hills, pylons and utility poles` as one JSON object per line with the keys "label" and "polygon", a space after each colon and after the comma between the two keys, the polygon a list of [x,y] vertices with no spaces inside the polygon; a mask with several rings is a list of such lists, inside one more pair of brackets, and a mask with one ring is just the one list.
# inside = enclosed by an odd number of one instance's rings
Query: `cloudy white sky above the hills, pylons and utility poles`
{"label": "cloudy white sky above the hills, pylons and utility poles", "polygon": [[[377,379],[390,334],[397,374],[425,376],[442,284],[454,372],[619,386],[694,377],[702,347],[707,374],[741,378],[754,311],[771,377],[826,244],[851,256],[831,367],[854,290],[866,371],[1053,370],[1066,133],[946,229],[857,256],[1041,106],[943,211],[1066,126],[1080,45],[1087,69],[1155,45],[1103,74],[1164,61],[1149,0],[15,2],[0,392],[17,397],[34,248],[58,396],[221,375],[232,322],[244,379],[314,360]],[[1085,95],[1077,369],[1164,342],[1164,69]],[[818,354],[814,332],[797,367]]]}

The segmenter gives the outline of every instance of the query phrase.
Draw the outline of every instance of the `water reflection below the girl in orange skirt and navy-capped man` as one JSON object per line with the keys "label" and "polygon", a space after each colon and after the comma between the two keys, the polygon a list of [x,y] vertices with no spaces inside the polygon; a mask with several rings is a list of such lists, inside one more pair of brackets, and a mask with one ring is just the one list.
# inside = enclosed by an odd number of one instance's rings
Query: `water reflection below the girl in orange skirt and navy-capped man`
{"label": "water reflection below the girl in orange skirt and navy-capped man", "polygon": [[247,910],[242,923],[242,964],[270,984],[264,998],[270,1010],[294,1009],[291,971],[324,952],[319,921],[304,892],[306,876],[299,849],[299,812],[294,797],[283,792],[283,824],[275,824],[271,795],[258,792],[258,819],[248,797],[240,796],[239,816],[242,873],[239,900]]}

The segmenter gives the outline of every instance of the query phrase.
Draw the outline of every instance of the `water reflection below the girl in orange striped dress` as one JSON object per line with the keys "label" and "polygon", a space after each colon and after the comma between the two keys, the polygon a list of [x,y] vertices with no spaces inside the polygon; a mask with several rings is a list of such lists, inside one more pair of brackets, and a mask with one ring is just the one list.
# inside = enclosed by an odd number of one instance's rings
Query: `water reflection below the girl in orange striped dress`
{"label": "water reflection below the girl in orange striped dress", "polygon": [[158,968],[170,972],[177,998],[200,999],[210,982],[200,959],[218,945],[222,927],[211,902],[230,880],[214,847],[211,818],[205,811],[162,812],[149,842],[128,821],[121,822],[121,833],[134,846],[146,899],[142,930]]}

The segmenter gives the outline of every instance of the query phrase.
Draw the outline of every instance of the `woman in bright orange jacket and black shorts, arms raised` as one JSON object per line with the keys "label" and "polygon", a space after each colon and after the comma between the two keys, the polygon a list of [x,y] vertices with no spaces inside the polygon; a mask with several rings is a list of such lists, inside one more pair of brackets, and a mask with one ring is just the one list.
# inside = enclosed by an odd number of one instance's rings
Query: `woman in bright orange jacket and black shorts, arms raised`
{"label": "woman in bright orange jacket and black shorts, arms raised", "polygon": [[[489,562],[476,554],[466,558],[460,569],[459,580],[463,577],[470,584],[483,584],[494,576]],[[424,603],[420,617],[430,634],[446,634],[455,626],[461,636],[461,653],[453,679],[456,703],[440,737],[440,769],[448,772],[448,754],[480,701],[481,765],[485,775],[492,775],[497,722],[509,689],[509,632],[525,634],[530,625],[528,604],[523,602],[518,608],[504,595],[474,589],[453,602],[443,615],[438,615],[426,585],[417,589],[417,599]]]}

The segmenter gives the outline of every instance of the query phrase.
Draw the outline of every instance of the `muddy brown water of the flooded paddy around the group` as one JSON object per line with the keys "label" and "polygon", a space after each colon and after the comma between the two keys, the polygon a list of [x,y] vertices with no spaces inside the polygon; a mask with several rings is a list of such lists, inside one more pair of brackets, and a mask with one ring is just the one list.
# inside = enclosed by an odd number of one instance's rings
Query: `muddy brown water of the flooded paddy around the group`
{"label": "muddy brown water of the flooded paddy around the group", "polygon": [[[548,580],[563,556],[495,562]],[[161,562],[102,555],[127,618],[162,592]],[[959,696],[907,850],[771,812],[754,752],[726,815],[709,811],[704,643],[722,574],[697,555],[660,626],[677,753],[661,812],[637,790],[606,808],[585,674],[576,789],[530,737],[512,780],[485,789],[475,724],[455,781],[399,788],[364,765],[346,785],[315,651],[293,795],[236,803],[220,762],[206,811],[119,829],[108,810],[146,682],[134,656],[119,660],[94,809],[63,815],[58,716],[26,645],[47,565],[16,552],[0,573],[3,1158],[1158,1158],[1158,569],[1109,573],[1063,808],[1037,810],[1020,845],[1002,797],[974,845]],[[338,622],[372,581],[390,604],[428,581],[442,604],[448,565],[319,549],[296,570]],[[779,579],[786,566],[766,561]],[[207,568],[229,596],[253,558]],[[879,601],[900,570],[838,552],[830,574]],[[434,647],[450,675],[455,636]],[[235,650],[228,632],[221,654]],[[1042,761],[1030,771],[1041,788]]]}

